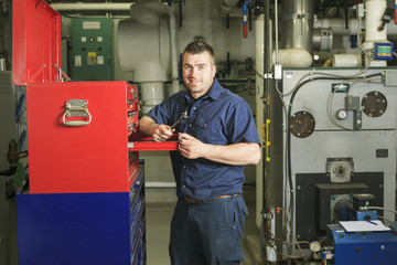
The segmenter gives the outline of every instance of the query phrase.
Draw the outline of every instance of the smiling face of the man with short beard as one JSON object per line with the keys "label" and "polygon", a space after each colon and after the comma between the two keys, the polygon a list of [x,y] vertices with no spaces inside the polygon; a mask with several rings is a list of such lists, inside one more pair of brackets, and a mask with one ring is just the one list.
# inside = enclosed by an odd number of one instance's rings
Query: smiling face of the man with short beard
{"label": "smiling face of the man with short beard", "polygon": [[212,86],[216,66],[210,53],[183,55],[183,81],[193,98],[205,95]]}

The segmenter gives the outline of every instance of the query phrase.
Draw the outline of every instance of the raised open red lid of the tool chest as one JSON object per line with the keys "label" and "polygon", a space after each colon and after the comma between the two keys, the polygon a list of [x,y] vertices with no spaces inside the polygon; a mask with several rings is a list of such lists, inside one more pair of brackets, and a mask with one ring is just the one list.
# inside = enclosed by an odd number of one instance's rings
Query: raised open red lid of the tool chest
{"label": "raised open red lid of the tool chest", "polygon": [[43,0],[13,0],[12,78],[17,85],[57,82],[61,15]]}

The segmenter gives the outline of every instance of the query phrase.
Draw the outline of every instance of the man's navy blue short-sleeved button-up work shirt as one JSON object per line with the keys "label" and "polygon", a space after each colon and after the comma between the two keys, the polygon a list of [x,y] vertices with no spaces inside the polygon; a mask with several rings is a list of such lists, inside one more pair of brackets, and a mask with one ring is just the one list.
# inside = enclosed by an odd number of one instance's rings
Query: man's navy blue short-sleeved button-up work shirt
{"label": "man's navy blue short-sleeved button-up work shirt", "polygon": [[[147,116],[171,126],[185,110],[189,118],[175,127],[175,132],[186,132],[212,145],[260,144],[247,102],[222,87],[216,78],[211,91],[201,98],[194,99],[189,89],[182,91],[152,108]],[[171,151],[171,161],[178,197],[210,200],[243,193],[244,166],[204,158],[187,159],[179,151]]]}

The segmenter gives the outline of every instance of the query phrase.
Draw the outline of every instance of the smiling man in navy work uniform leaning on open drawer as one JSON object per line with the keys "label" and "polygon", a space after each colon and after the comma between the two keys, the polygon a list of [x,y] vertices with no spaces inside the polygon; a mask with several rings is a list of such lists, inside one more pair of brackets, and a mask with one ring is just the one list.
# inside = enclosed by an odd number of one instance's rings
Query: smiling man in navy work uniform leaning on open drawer
{"label": "smiling man in navy work uniform leaning on open drawer", "polygon": [[[139,121],[139,131],[155,141],[179,134],[179,151],[171,152],[178,195],[170,240],[173,265],[244,261],[242,236],[248,212],[242,197],[243,169],[259,162],[260,141],[248,104],[223,88],[215,73],[212,46],[192,42],[183,52],[189,89]],[[171,128],[181,116],[185,118]]]}

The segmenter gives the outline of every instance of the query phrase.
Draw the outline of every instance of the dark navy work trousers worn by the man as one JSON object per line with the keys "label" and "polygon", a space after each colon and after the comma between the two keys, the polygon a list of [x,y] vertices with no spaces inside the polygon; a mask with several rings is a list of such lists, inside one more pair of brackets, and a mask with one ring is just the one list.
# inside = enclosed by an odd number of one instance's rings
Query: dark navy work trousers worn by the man
{"label": "dark navy work trousers worn by the man", "polygon": [[239,264],[246,214],[242,195],[201,203],[180,198],[171,222],[171,264]]}

